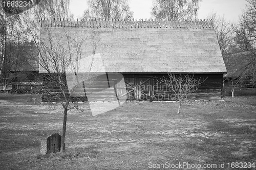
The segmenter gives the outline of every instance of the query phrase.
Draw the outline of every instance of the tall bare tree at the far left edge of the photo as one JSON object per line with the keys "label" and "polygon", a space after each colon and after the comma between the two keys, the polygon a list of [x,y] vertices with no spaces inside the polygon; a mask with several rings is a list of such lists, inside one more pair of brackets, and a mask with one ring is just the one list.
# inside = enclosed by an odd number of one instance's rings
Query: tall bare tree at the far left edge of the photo
{"label": "tall bare tree at the far left edge of the photo", "polygon": [[[0,3],[0,8],[2,8]],[[4,90],[16,77],[16,71],[21,65],[18,60],[18,45],[26,39],[24,30],[19,27],[21,19],[18,15],[7,16],[0,10],[0,80],[4,84]]]}

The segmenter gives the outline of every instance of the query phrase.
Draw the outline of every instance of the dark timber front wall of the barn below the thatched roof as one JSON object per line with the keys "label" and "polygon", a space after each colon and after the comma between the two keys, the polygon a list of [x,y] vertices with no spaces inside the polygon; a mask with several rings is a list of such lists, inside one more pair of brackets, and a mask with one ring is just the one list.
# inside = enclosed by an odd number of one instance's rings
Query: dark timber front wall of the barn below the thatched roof
{"label": "dark timber front wall of the barn below the thatched roof", "polygon": [[[108,73],[111,75],[111,73]],[[91,96],[91,101],[116,101],[116,92],[119,94],[126,94],[122,96],[122,99],[128,101],[141,101],[141,100],[153,100],[153,101],[168,101],[175,100],[175,96],[167,86],[161,84],[159,81],[161,78],[167,77],[167,74],[122,74],[125,81],[125,87],[114,89],[114,84],[120,81],[120,78],[116,76],[109,76],[109,81],[105,82],[104,78],[98,77],[92,85],[86,87],[86,94],[94,93]],[[198,90],[188,96],[188,100],[220,100],[222,98],[222,86],[223,75],[222,74],[195,74],[194,78],[204,80],[202,84],[198,86]],[[46,79],[45,79],[46,80]],[[48,91],[59,91],[57,86],[46,86]],[[104,91],[103,91],[104,90]],[[79,100],[74,101],[87,101],[85,91],[81,85],[75,88],[75,96],[82,96]],[[68,90],[67,90],[68,92]],[[95,94],[95,92],[97,92]],[[72,96],[73,96],[72,95]],[[53,98],[52,98],[53,99]],[[45,101],[48,101],[45,99]]]}

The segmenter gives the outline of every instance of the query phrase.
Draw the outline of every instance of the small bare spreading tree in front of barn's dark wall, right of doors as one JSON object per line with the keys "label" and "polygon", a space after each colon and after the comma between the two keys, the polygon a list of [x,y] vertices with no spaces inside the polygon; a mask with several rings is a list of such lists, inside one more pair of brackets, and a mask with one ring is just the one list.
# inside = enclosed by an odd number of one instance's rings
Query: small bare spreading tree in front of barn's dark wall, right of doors
{"label": "small bare spreading tree in front of barn's dark wall, right of doors", "polygon": [[174,75],[168,73],[168,77],[163,77],[159,83],[166,85],[170,91],[174,92],[176,100],[179,100],[179,108],[177,114],[180,113],[180,107],[187,96],[198,89],[198,85],[202,84],[205,80],[195,79],[194,75]]}

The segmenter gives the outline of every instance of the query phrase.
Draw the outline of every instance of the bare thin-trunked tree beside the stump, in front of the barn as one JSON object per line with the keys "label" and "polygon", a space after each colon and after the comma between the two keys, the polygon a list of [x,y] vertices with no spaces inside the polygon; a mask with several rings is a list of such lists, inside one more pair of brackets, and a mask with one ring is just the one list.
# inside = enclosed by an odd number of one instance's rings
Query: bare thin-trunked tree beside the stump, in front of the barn
{"label": "bare thin-trunked tree beside the stump, in front of the barn", "polygon": [[[29,23],[30,24],[30,23]],[[38,64],[39,70],[41,72],[46,72],[44,74],[44,80],[46,84],[44,85],[44,96],[50,100],[57,100],[63,108],[63,125],[62,125],[62,137],[61,137],[61,152],[65,150],[65,137],[66,137],[66,125],[67,125],[67,113],[70,109],[79,109],[77,105],[70,102],[73,100],[71,95],[73,92],[73,87],[83,86],[86,83],[90,83],[94,80],[95,75],[91,75],[91,68],[87,68],[86,74],[80,72],[81,69],[80,61],[82,56],[91,55],[90,60],[86,59],[89,66],[92,66],[94,62],[94,55],[97,48],[97,38],[94,38],[91,43],[92,53],[84,54],[83,49],[88,48],[86,44],[86,39],[89,37],[74,37],[66,32],[65,28],[62,28],[63,36],[56,36],[47,26],[45,28],[45,36],[40,38],[37,32],[33,29],[29,29],[38,53],[28,54],[30,55]],[[95,40],[95,41],[94,41]],[[84,67],[84,66],[83,66]],[[68,77],[69,76],[69,77]],[[68,88],[67,79],[73,85],[72,88]],[[58,93],[52,93],[51,88],[58,87]],[[83,92],[83,96],[86,93]]]}

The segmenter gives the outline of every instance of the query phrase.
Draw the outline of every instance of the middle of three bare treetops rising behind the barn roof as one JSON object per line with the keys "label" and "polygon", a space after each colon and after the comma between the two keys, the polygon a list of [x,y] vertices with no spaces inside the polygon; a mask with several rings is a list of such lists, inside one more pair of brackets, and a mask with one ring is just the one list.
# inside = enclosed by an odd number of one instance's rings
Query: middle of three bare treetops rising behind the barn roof
{"label": "middle of three bare treetops rising behind the barn roof", "polygon": [[129,19],[133,17],[129,0],[89,0],[89,9],[84,11],[83,18]]}

